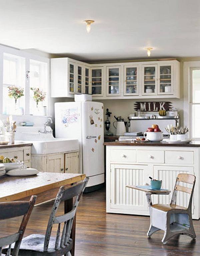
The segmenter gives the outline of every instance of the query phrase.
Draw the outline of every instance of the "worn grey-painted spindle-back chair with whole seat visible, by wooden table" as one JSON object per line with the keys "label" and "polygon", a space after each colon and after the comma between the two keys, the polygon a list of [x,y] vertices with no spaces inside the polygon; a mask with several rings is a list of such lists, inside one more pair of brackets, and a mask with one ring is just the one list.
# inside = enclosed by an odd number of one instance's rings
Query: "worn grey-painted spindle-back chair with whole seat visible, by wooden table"
{"label": "worn grey-painted spindle-back chair with whole seat visible, by wooden table", "polygon": [[[25,237],[21,242],[20,256],[71,256],[70,250],[73,247],[73,241],[70,238],[72,224],[88,180],[89,178],[85,178],[83,182],[77,183],[67,189],[64,187],[59,189],[51,210],[46,234],[32,234]],[[56,216],[60,203],[72,198],[72,210],[64,215]],[[58,226],[56,237],[51,235],[53,225]]]}

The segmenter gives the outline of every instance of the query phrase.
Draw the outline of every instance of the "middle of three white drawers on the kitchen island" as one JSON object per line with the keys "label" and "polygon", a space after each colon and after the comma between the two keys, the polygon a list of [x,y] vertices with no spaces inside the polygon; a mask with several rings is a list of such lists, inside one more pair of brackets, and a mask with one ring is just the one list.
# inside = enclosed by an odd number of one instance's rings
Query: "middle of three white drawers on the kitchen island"
{"label": "middle of three white drawers on the kitchen island", "polygon": [[163,150],[138,150],[138,163],[164,163]]}

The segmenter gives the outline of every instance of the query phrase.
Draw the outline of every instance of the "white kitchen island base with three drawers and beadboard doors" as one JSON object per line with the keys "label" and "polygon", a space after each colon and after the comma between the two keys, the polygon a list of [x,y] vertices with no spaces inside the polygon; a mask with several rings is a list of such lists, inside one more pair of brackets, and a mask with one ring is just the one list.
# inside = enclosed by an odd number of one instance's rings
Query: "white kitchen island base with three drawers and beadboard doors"
{"label": "white kitchen island base with three drawers and beadboard doors", "polygon": [[[145,193],[126,186],[150,184],[149,176],[162,180],[171,193],[152,196],[153,203],[169,204],[177,174],[189,173],[196,176],[192,216],[199,219],[199,160],[196,147],[106,146],[106,212],[149,215]],[[177,204],[188,203],[189,196],[179,192]]]}

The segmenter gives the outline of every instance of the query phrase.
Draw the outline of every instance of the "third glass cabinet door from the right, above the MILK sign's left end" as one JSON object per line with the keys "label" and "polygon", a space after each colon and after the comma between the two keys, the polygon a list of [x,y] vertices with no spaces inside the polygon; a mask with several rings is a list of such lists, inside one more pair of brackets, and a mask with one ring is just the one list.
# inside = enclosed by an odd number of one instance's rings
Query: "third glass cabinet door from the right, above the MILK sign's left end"
{"label": "third glass cabinet door from the right, above the MILK sign's left end", "polygon": [[124,95],[138,95],[138,66],[124,66]]}

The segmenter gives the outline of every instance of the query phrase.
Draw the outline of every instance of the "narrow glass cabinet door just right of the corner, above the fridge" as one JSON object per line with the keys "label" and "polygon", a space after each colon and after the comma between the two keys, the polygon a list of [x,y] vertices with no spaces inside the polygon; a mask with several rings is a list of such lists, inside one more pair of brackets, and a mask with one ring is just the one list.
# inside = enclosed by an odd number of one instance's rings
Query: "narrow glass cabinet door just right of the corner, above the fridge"
{"label": "narrow glass cabinet door just right of the corner, above the fridge", "polygon": [[103,67],[92,68],[92,94],[94,96],[102,96],[102,74]]}

